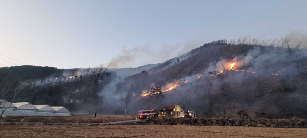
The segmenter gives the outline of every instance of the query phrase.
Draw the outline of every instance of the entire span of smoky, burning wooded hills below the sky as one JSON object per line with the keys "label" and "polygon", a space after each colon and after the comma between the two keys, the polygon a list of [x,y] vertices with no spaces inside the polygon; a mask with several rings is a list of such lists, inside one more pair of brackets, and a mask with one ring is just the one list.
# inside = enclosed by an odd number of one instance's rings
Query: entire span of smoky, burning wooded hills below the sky
{"label": "entire span of smoky, burning wooded hills below the sky", "polygon": [[[10,100],[21,80],[26,87],[15,102],[66,106],[80,114],[123,114],[127,98],[128,114],[179,103],[199,117],[306,118],[306,48],[287,40],[244,41],[213,41],[127,77],[105,68],[2,67],[1,90],[10,82],[4,97]],[[150,92],[159,86],[161,92]]]}

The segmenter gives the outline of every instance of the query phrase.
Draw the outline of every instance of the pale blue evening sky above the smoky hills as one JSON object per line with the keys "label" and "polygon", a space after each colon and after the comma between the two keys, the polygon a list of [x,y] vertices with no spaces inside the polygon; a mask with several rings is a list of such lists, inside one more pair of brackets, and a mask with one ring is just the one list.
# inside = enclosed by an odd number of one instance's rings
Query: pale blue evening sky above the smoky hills
{"label": "pale blue evening sky above the smoky hills", "polygon": [[306,5],[306,0],[0,0],[0,67],[162,63],[213,40],[305,34]]}

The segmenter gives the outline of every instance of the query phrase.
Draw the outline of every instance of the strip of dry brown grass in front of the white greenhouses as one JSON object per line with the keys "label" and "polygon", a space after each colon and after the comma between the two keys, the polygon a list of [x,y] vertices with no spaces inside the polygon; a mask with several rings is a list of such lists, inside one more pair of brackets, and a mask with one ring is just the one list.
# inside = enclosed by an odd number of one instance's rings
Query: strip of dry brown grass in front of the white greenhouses
{"label": "strip of dry brown grass in front of the white greenhouses", "polygon": [[[132,116],[126,116],[126,120],[132,120]],[[135,118],[135,117],[134,117]],[[123,121],[123,115],[98,115],[94,116],[9,116],[0,119],[0,122],[22,123],[105,123]]]}

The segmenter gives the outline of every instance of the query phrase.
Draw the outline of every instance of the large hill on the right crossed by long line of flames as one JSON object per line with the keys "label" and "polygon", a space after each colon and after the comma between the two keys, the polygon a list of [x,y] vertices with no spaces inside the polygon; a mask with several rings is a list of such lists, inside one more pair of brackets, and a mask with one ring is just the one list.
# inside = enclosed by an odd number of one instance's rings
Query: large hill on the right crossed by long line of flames
{"label": "large hill on the right crossed by long line of flames", "polygon": [[[178,102],[200,117],[306,117],[306,48],[288,46],[214,41],[171,66],[129,76],[114,91],[135,94],[131,111]],[[150,93],[153,86],[162,93]]]}

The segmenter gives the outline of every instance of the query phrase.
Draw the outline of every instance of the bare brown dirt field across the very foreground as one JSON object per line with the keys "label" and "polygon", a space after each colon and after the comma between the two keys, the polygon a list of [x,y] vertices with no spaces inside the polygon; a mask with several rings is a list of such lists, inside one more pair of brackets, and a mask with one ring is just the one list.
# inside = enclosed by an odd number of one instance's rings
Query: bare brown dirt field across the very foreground
{"label": "bare brown dirt field across the very foreground", "polygon": [[307,129],[221,127],[221,126],[177,126],[177,125],[84,125],[84,126],[0,125],[0,137],[297,138],[297,137],[307,137]]}

